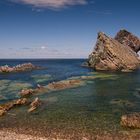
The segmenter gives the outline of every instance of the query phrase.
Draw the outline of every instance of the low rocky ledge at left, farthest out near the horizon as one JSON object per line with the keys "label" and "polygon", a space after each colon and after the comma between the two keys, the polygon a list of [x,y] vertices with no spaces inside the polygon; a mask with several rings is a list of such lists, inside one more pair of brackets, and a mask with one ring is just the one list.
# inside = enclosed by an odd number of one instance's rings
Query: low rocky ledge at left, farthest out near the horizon
{"label": "low rocky ledge at left, farthest out near the horizon", "polygon": [[9,72],[20,72],[20,71],[29,71],[29,70],[33,70],[33,69],[38,69],[38,66],[33,65],[32,63],[24,63],[24,64],[19,64],[17,66],[0,66],[0,72],[5,72],[5,73],[9,73]]}

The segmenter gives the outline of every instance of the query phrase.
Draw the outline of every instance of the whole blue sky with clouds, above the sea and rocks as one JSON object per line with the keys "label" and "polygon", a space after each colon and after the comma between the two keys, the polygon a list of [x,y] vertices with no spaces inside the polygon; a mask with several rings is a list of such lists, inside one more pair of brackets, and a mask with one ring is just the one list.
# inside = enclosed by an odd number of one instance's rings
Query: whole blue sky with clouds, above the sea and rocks
{"label": "whole blue sky with clouds, above the sea and rocks", "polygon": [[140,0],[0,0],[0,58],[87,58],[99,31],[139,26]]}

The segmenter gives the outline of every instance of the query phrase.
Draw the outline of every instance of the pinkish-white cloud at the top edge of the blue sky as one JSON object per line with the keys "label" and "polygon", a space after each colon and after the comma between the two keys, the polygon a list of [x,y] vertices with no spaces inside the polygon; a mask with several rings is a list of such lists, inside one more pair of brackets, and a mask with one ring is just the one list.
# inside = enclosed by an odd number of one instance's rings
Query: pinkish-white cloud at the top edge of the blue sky
{"label": "pinkish-white cloud at the top edge of the blue sky", "polygon": [[59,9],[68,5],[84,5],[87,0],[10,0],[12,2],[29,4],[38,8]]}

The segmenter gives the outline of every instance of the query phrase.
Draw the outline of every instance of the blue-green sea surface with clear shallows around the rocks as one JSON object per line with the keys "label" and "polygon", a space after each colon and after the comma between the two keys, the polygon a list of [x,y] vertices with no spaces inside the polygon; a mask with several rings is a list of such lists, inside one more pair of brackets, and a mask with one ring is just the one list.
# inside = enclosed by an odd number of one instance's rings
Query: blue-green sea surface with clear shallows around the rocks
{"label": "blue-green sea surface with clear shallows around the rocks", "polygon": [[[19,98],[18,92],[47,85],[53,81],[84,79],[84,85],[39,93],[42,106],[28,113],[29,106],[18,106],[0,118],[0,129],[18,129],[24,133],[51,135],[93,134],[94,132],[130,132],[120,125],[123,114],[140,111],[140,70],[131,73],[96,72],[83,67],[84,59],[0,60],[0,65],[31,62],[44,69],[18,73],[0,73],[0,103]],[[137,132],[140,132],[137,130]]]}

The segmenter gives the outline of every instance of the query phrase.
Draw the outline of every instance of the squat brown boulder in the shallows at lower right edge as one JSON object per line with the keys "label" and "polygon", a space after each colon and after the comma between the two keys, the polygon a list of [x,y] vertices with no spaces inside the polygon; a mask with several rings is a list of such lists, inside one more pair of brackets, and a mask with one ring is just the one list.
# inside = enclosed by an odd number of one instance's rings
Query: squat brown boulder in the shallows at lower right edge
{"label": "squat brown boulder in the shallows at lower right edge", "polygon": [[140,128],[140,113],[131,113],[121,117],[120,124],[130,128]]}

